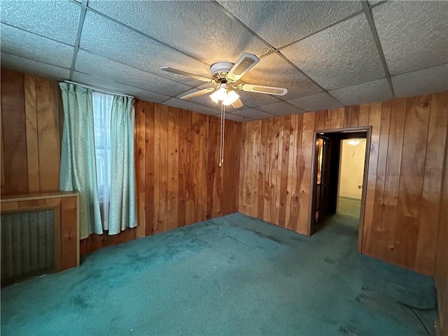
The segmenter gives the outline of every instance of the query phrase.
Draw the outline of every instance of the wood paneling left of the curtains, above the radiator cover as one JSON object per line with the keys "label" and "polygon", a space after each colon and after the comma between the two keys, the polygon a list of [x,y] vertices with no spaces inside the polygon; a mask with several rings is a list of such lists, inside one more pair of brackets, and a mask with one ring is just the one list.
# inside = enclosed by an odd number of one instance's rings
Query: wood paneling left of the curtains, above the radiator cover
{"label": "wood paneling left of the curtains, above the radiator cover", "polygon": [[59,190],[62,111],[55,80],[1,69],[1,195]]}

